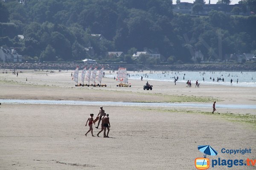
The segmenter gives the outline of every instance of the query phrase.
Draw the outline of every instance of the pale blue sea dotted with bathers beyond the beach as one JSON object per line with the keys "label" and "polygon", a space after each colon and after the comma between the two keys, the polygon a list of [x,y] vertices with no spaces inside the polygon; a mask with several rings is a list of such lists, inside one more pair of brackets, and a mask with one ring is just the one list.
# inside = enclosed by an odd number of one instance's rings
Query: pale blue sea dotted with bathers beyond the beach
{"label": "pale blue sea dotted with bathers beyond the beach", "polygon": [[[143,80],[156,80],[174,82],[175,78],[177,82],[183,82],[186,84],[188,80],[195,85],[198,80],[200,85],[231,85],[230,81],[233,80],[233,86],[240,87],[256,87],[256,71],[151,71],[152,74],[145,74],[143,72],[128,71],[130,77],[128,79],[141,79]],[[106,77],[116,77],[116,73],[106,75]],[[184,79],[183,79],[184,77]],[[204,80],[203,80],[204,78]],[[214,78],[214,81],[213,81]],[[221,80],[217,81],[217,78]],[[224,81],[222,81],[224,78]],[[237,82],[238,80],[238,82]]]}

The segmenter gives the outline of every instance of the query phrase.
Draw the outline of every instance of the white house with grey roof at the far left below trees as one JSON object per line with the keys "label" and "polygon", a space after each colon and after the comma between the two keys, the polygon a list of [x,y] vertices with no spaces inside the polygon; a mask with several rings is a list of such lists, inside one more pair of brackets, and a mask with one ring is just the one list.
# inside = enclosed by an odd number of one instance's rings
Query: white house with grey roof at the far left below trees
{"label": "white house with grey roof at the far left below trees", "polygon": [[22,62],[22,55],[19,55],[14,48],[0,48],[0,62]]}

